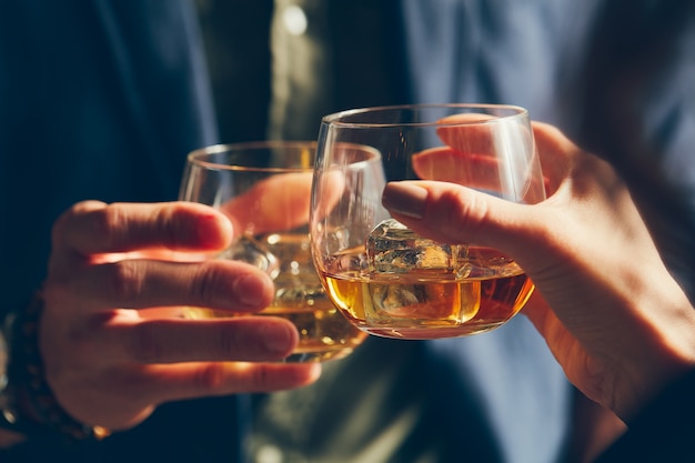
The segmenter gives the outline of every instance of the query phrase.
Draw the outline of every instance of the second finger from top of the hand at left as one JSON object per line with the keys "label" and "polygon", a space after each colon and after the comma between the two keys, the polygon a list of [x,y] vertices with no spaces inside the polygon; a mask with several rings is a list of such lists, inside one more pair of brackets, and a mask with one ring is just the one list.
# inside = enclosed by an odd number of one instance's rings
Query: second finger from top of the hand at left
{"label": "second finger from top of the hand at left", "polygon": [[80,306],[90,310],[193,305],[258,311],[274,296],[273,282],[265,272],[230,260],[122,260],[80,268],[60,285],[57,280],[47,285],[47,300],[79,294]]}

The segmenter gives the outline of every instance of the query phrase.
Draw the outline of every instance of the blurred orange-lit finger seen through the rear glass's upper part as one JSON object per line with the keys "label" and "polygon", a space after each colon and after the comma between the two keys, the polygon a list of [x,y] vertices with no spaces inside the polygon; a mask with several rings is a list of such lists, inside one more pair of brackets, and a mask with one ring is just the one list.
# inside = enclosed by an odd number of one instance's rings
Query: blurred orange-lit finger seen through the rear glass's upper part
{"label": "blurred orange-lit finger seen through the rear glass's upper part", "polygon": [[309,223],[311,172],[264,179],[222,207],[236,234],[292,230]]}

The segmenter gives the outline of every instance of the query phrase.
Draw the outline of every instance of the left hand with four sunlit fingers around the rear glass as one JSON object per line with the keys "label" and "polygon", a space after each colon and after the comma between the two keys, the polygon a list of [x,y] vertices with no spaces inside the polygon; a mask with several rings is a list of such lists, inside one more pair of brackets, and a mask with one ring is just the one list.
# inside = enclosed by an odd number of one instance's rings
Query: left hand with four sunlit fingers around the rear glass
{"label": "left hand with four sunlit fingers around the rear glass", "polygon": [[[275,318],[184,320],[183,306],[256,312],[271,280],[241,262],[191,261],[232,239],[228,219],[185,202],[78,203],[56,223],[42,295],[46,376],[77,420],[133,426],[167,401],[302,386],[318,364],[288,355],[294,326]],[[251,362],[251,363],[250,363]]]}

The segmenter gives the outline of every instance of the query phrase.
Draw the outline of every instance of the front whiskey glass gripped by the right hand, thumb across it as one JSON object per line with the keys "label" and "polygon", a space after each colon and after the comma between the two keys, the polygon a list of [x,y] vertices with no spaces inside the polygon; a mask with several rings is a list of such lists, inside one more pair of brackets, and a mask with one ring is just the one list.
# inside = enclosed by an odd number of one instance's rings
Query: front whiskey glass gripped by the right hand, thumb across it
{"label": "front whiskey glass gripped by the right hand, thumb across it", "polygon": [[[382,180],[351,181],[336,150],[344,143],[379,152]],[[434,242],[391,218],[381,195],[386,181],[400,180],[453,182],[517,203],[542,201],[527,111],[420,104],[326,115],[312,187],[314,265],[355,326],[385,338],[439,339],[483,333],[512,319],[534,290],[523,269],[494,249]]]}

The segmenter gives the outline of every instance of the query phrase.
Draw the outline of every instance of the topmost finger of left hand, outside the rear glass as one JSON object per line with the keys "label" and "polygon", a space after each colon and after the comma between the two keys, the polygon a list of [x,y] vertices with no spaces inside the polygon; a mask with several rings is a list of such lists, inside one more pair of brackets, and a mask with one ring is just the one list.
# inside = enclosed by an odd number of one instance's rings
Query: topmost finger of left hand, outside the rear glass
{"label": "topmost finger of left hand, outside the rear glass", "polygon": [[92,254],[162,248],[219,250],[231,236],[229,220],[203,204],[85,201],[59,218],[52,241],[56,250]]}

